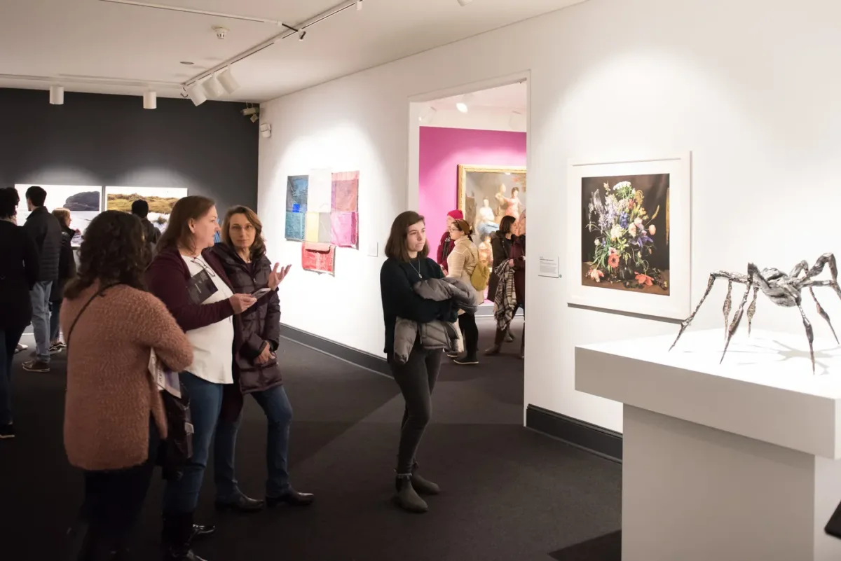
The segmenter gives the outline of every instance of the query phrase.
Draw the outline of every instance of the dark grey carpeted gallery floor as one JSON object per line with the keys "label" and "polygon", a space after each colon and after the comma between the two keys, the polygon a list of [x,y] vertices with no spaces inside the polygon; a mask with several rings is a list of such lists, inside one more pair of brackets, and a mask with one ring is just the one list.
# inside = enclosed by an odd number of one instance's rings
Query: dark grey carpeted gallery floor
{"label": "dark grey carpeted gallery floor", "polygon": [[[493,326],[479,318],[479,328],[484,349]],[[315,505],[217,513],[209,469],[199,522],[219,530],[197,552],[208,561],[615,561],[621,465],[521,426],[519,347],[508,343],[475,367],[444,364],[419,455],[444,492],[417,516],[389,503],[403,407],[394,380],[284,341],[295,419],[290,471],[296,488],[317,495]],[[0,441],[0,558],[9,561],[56,558],[82,498],[61,441],[64,359],[56,356],[50,374],[24,372],[22,359],[13,374],[19,436]],[[246,400],[237,470],[241,488],[257,497],[265,438],[262,410]],[[157,558],[161,488],[156,479],[137,529],[137,559]]]}

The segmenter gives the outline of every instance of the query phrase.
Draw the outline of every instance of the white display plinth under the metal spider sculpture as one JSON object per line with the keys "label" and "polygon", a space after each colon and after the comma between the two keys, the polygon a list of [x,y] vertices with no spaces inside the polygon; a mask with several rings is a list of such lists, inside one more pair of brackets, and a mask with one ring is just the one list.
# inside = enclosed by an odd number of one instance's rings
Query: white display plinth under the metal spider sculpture
{"label": "white display plinth under the metal spider sculpture", "polygon": [[841,348],[812,375],[805,333],[743,329],[719,364],[722,328],[677,330],[575,349],[575,389],[625,404],[622,561],[841,559]]}

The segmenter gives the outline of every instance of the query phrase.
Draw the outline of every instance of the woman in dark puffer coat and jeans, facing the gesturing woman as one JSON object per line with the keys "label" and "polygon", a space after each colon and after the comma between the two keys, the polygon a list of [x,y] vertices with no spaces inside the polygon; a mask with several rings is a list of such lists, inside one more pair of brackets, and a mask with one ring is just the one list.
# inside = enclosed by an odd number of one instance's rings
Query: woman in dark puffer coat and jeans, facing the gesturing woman
{"label": "woman in dark puffer coat and jeans, facing the gesturing woman", "polygon": [[[225,274],[236,292],[251,294],[269,286],[272,276],[279,283],[288,266],[278,272],[266,256],[262,223],[248,207],[233,207],[222,224],[222,242],[214,246]],[[274,285],[275,283],[272,283]],[[280,344],[280,300],[277,289],[257,295],[257,303],[235,317],[234,384],[225,386],[222,414],[216,428],[214,474],[216,505],[238,511],[262,508],[263,501],[243,495],[234,476],[236,432],[240,425],[243,396],[251,394],[268,420],[266,489],[267,506],[285,503],[309,505],[314,496],[289,485],[288,448],[292,406],[283,389],[275,352]]]}

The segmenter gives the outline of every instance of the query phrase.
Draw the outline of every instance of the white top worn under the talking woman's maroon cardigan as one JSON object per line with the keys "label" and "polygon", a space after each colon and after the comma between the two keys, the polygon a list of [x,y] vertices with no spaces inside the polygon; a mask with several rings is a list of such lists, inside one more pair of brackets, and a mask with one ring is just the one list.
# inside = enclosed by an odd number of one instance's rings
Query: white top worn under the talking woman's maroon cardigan
{"label": "white top worn under the talking woman's maroon cardigan", "polygon": [[[182,255],[181,257],[187,263],[190,276],[207,270],[216,286],[216,291],[202,302],[203,306],[234,296],[225,281],[216,274],[216,271],[201,255],[198,257]],[[204,328],[191,329],[186,334],[190,343],[193,344],[193,364],[184,370],[214,384],[233,384],[234,373],[231,363],[234,348],[234,318],[225,317],[221,322],[211,323]]]}

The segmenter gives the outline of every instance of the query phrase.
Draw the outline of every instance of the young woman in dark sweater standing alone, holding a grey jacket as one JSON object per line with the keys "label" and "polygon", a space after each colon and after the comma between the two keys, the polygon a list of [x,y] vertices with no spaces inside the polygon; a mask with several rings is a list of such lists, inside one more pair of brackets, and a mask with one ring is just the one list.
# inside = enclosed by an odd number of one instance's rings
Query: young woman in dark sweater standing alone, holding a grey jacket
{"label": "young woman in dark sweater standing alone, holding a grey jacket", "polygon": [[436,495],[438,485],[417,473],[415,453],[431,415],[432,389],[441,369],[441,350],[427,350],[415,342],[406,364],[394,360],[394,323],[398,317],[419,323],[436,319],[456,320],[456,311],[449,300],[431,301],[421,298],[412,286],[423,279],[444,277],[441,267],[429,259],[426,224],[417,212],[403,212],[391,225],[385,245],[388,260],[379,273],[385,322],[385,354],[394,380],[405,400],[400,444],[397,455],[396,494],[394,502],[410,512],[426,512],[428,506],[418,493]]}

